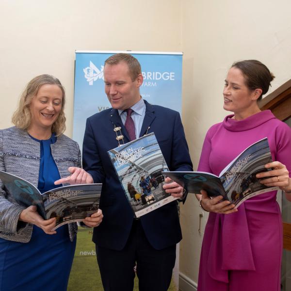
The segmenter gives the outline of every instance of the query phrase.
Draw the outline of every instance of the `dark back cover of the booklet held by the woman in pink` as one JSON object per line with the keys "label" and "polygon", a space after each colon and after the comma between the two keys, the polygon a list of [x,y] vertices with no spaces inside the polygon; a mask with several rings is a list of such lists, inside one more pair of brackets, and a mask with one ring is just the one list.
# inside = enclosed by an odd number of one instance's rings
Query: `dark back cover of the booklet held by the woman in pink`
{"label": "dark back cover of the booklet held by the woman in pink", "polygon": [[189,193],[200,194],[200,190],[205,190],[211,197],[223,195],[227,199],[220,179],[214,174],[206,172],[164,172],[163,174],[187,189]]}

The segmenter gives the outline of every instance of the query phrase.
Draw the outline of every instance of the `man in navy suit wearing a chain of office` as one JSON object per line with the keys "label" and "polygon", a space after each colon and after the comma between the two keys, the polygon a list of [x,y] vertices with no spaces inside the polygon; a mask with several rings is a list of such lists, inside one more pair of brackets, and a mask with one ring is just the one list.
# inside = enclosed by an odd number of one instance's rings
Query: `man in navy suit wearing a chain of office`
{"label": "man in navy suit wearing a chain of office", "polygon": [[[104,82],[112,108],[87,119],[83,142],[84,170],[95,183],[103,183],[99,207],[104,217],[93,232],[103,287],[132,291],[136,264],[140,291],[166,291],[176,244],[182,239],[177,201],[135,219],[107,151],[129,142],[129,136],[154,132],[169,169],[192,171],[181,119],[178,112],[142,99],[141,66],[129,54],[115,54],[105,61]],[[125,127],[127,109],[132,109],[133,132]],[[121,140],[116,139],[116,127],[121,127]],[[183,188],[169,178],[166,181],[166,192],[183,198]]]}

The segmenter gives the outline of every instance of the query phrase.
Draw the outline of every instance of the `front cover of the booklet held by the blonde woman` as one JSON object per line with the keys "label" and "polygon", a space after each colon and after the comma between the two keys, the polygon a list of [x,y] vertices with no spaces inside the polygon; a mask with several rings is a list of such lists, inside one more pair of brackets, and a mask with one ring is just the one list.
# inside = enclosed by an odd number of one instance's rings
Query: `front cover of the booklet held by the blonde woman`
{"label": "front cover of the booklet held by the blonde woman", "polygon": [[46,219],[56,218],[54,229],[83,220],[97,212],[101,189],[102,184],[80,184],[55,188],[42,194]]}

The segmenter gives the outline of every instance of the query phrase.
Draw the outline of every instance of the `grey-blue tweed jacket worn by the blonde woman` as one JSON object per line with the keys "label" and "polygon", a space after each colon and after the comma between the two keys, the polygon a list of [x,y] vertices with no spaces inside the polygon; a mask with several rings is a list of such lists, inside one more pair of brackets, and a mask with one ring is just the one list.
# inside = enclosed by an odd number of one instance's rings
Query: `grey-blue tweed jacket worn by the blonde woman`
{"label": "grey-blue tweed jacket worn by the blonde woman", "polygon": [[[69,175],[68,167],[81,167],[81,152],[78,144],[65,136],[58,136],[51,146],[52,157],[61,178]],[[0,130],[0,170],[24,178],[35,187],[38,184],[40,145],[26,130],[12,127]],[[0,180],[0,238],[15,242],[29,242],[32,236],[30,223],[18,221],[25,208],[18,205],[12,195],[2,189]],[[77,224],[68,224],[70,240],[77,233]]]}

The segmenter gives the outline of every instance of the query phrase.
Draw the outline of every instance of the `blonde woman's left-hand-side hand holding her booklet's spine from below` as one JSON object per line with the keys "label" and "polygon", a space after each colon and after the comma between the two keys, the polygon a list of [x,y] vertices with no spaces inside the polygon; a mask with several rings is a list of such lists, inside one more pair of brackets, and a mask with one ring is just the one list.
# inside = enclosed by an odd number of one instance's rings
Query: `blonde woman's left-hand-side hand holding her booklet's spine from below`
{"label": "blonde woman's left-hand-side hand holding her booklet's spine from below", "polygon": [[57,233],[55,230],[52,230],[56,226],[56,219],[53,217],[48,220],[44,220],[37,213],[35,205],[32,205],[25,210],[22,210],[19,215],[19,220],[40,227],[47,234]]}

